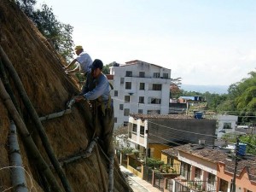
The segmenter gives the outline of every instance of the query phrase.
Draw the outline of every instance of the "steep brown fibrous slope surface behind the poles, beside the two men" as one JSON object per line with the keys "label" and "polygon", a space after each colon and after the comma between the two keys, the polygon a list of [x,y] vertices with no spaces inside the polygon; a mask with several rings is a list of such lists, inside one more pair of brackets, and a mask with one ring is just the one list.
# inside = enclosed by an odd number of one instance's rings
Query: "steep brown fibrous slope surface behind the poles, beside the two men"
{"label": "steep brown fibrous slope surface behind the poles, beside the two men", "polygon": [[[0,45],[9,60],[15,67],[20,80],[26,90],[38,116],[65,110],[66,102],[79,90],[73,81],[63,72],[64,61],[55,53],[47,40],[32,25],[20,9],[9,0],[0,1]],[[1,59],[1,58],[0,58]],[[8,72],[8,70],[6,70]],[[37,144],[44,160],[50,165],[49,157],[45,153],[38,131],[29,115],[24,103],[20,99],[11,74],[7,73],[15,98],[23,113],[24,122],[30,131],[34,143]],[[0,90],[3,91],[3,90]],[[9,166],[9,121],[10,116],[3,100],[0,100],[0,190],[9,189],[11,186]],[[90,110],[86,103],[78,103],[73,107],[73,112],[65,116],[49,119],[42,122],[49,138],[49,143],[58,160],[65,159],[87,148],[95,128],[90,125]],[[96,130],[100,130],[96,128]],[[30,158],[30,151],[19,137],[20,154],[26,170],[26,182],[31,191],[46,191],[44,177],[38,172],[38,167]],[[99,163],[102,162],[102,174]],[[51,167],[58,182],[61,182]],[[100,150],[100,158],[96,150],[92,151],[89,158],[76,160],[63,166],[67,179],[73,191],[104,191],[102,180],[108,185],[108,160]],[[64,191],[64,189],[63,189]],[[115,161],[113,191],[129,191],[124,182],[119,166]]]}

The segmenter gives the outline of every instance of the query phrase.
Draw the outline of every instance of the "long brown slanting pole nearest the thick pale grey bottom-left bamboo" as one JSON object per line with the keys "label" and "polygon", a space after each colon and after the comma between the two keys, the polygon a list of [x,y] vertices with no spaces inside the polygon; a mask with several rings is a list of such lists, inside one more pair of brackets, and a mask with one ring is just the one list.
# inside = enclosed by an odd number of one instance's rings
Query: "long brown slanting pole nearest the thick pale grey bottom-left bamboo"
{"label": "long brown slanting pole nearest the thick pale grey bottom-left bamboo", "polygon": [[23,120],[20,118],[20,115],[15,108],[14,103],[11,101],[7,91],[3,86],[2,79],[0,79],[0,98],[2,99],[5,107],[7,108],[9,114],[12,115],[12,118],[15,121],[15,125],[19,129],[20,135],[24,140],[27,150],[32,155],[32,159],[35,160],[38,169],[44,173],[45,177],[47,177],[48,182],[52,186],[53,191],[62,192],[59,184],[57,183],[53,173],[50,171],[49,166],[44,161],[42,155],[39,153],[36,144],[33,142],[30,133],[26,129],[26,125]]}

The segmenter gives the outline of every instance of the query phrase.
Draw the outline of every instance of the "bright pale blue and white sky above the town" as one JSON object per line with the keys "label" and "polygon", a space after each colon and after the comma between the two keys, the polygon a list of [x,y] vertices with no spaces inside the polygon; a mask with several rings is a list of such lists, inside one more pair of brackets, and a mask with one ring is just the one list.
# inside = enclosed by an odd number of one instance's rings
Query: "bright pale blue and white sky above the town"
{"label": "bright pale blue and white sky above the town", "polygon": [[230,85],[256,68],[254,0],[38,0],[92,59],[141,60],[183,84]]}

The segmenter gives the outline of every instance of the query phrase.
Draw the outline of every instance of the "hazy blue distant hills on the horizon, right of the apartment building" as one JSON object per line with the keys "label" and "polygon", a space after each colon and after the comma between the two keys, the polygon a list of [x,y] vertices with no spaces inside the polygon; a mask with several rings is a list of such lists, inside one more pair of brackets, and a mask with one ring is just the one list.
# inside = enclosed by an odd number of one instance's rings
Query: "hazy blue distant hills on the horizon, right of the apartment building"
{"label": "hazy blue distant hills on the horizon, right of the apartment building", "polygon": [[181,89],[186,91],[196,91],[205,93],[209,91],[210,93],[224,94],[228,93],[229,85],[195,85],[195,84],[182,84]]}

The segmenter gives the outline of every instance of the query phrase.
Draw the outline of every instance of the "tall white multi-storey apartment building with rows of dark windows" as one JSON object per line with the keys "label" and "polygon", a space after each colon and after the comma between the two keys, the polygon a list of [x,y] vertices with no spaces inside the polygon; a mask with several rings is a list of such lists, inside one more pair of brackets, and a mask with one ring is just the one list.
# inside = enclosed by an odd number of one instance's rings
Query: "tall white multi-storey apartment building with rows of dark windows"
{"label": "tall white multi-storey apartment building with rows of dark windows", "polygon": [[144,61],[110,67],[114,128],[128,125],[130,113],[168,114],[171,69]]}

